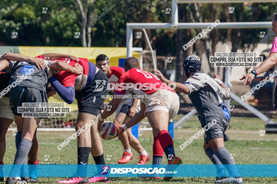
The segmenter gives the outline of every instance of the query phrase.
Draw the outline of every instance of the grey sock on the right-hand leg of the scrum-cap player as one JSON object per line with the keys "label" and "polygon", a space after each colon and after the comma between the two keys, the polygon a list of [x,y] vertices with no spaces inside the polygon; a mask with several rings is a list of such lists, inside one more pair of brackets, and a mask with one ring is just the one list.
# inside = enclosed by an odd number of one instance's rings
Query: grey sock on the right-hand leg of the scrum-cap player
{"label": "grey sock on the right-hand leg of the scrum-cap player", "polygon": [[218,157],[218,159],[221,161],[221,163],[227,169],[230,176],[235,177],[235,178],[240,177],[240,174],[235,165],[235,161],[233,158],[231,158],[230,153],[226,150],[225,147],[218,148],[214,154]]}

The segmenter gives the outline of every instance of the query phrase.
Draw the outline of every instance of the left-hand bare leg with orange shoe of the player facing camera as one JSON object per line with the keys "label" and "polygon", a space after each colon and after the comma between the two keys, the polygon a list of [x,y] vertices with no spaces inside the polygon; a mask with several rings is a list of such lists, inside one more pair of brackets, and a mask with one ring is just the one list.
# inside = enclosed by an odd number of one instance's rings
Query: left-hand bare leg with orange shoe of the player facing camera
{"label": "left-hand bare leg with orange shoe of the player facing camera", "polygon": [[[118,113],[118,115],[116,116],[116,118],[114,120],[114,124],[121,126],[122,123],[124,122],[124,119],[126,118],[126,116],[127,115],[125,113]],[[118,160],[118,163],[126,164],[134,158],[134,153],[131,150],[127,132],[123,132],[123,134],[119,136],[119,139],[123,145],[124,153],[122,155],[122,158]]]}

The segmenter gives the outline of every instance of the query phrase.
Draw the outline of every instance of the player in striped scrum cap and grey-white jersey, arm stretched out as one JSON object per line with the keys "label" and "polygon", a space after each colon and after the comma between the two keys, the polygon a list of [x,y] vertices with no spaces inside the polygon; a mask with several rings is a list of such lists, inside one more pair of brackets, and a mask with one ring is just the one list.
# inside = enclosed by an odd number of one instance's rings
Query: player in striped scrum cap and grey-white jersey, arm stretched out
{"label": "player in striped scrum cap and grey-white jersey, arm stretched out", "polygon": [[[190,55],[184,60],[184,77],[187,79],[184,84],[166,79],[159,70],[154,71],[161,81],[167,84],[175,83],[177,91],[189,95],[198,112],[201,127],[205,130],[205,153],[217,168],[215,183],[243,183],[234,159],[230,159],[230,153],[224,147],[224,141],[229,140],[225,131],[229,126],[231,115],[223,100],[230,98],[230,92],[220,77],[214,73],[213,79],[205,74],[201,69],[200,58],[196,55]],[[226,177],[224,168],[231,177]]]}

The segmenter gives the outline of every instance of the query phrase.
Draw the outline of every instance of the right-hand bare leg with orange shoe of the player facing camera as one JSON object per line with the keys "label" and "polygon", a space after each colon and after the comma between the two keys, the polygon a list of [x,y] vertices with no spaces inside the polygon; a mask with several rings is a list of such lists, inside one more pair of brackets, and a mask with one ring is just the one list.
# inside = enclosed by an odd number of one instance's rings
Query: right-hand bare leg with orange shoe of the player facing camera
{"label": "right-hand bare leg with orange shoe of the player facing camera", "polygon": [[[123,124],[127,123],[129,120],[130,118],[126,115]],[[132,129],[127,129],[126,133],[131,147],[139,153],[139,162],[137,164],[145,164],[151,159],[151,156],[149,155],[149,153],[147,153],[147,151],[144,150],[139,140],[132,134]]]}

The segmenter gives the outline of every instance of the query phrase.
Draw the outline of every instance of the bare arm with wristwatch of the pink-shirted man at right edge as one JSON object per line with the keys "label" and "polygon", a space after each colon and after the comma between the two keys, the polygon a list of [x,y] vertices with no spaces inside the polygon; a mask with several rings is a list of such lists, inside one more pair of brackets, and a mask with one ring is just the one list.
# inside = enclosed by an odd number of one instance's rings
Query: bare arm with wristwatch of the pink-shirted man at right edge
{"label": "bare arm with wristwatch of the pink-shirted man at right edge", "polygon": [[[263,61],[263,63],[258,66],[257,68],[255,68],[254,70],[257,72],[257,74],[261,74],[265,71],[268,71],[270,68],[272,68],[273,66],[275,66],[277,63],[277,53],[276,52],[272,52],[269,54],[269,57]],[[251,84],[252,80],[255,78],[255,76],[252,73],[247,73],[244,74],[240,80],[243,80],[243,84]]]}

